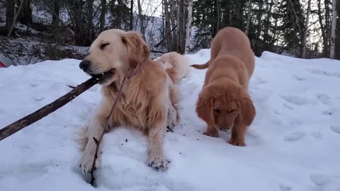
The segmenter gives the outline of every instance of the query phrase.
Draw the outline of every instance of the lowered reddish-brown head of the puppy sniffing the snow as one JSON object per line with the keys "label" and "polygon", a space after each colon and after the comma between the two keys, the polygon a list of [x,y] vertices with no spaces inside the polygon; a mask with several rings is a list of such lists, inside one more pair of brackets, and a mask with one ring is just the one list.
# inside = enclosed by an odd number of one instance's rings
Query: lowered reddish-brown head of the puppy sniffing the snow
{"label": "lowered reddish-brown head of the puppy sniffing the snow", "polygon": [[196,112],[208,125],[222,131],[234,127],[235,122],[251,125],[256,113],[248,93],[237,83],[228,82],[203,88]]}

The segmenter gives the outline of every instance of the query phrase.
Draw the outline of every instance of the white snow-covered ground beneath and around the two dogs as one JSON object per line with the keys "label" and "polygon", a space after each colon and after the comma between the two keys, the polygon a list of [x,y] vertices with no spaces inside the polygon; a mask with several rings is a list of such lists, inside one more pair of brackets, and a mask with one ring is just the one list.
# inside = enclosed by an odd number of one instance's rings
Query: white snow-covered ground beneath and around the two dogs
{"label": "white snow-covered ground beneath and around the two dogs", "polygon": [[[203,63],[209,50],[188,55]],[[52,102],[89,77],[79,60],[0,69],[0,127]],[[0,190],[340,190],[340,62],[264,52],[256,58],[250,92],[257,115],[245,147],[230,134],[204,136],[194,105],[205,71],[181,82],[181,125],[166,133],[169,170],[147,166],[147,141],[118,128],[106,134],[91,187],[78,170],[74,139],[100,99],[94,86],[60,110],[0,141]]]}

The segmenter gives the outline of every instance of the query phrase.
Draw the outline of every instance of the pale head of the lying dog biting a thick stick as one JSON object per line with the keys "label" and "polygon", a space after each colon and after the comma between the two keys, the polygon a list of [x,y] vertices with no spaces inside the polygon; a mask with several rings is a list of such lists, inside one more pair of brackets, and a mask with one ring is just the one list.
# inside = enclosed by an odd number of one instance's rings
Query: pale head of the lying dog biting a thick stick
{"label": "pale head of the lying dog biting a thick stick", "polygon": [[98,83],[109,85],[121,80],[148,56],[149,47],[139,33],[111,29],[98,35],[79,67]]}

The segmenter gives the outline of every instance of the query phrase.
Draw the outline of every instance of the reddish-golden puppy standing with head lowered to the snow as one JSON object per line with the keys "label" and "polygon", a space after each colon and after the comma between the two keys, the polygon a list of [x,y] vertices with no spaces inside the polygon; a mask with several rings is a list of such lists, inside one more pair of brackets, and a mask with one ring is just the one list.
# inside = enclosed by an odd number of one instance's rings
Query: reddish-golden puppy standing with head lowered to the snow
{"label": "reddish-golden puppy standing with head lowered to the snow", "polygon": [[218,137],[218,131],[232,129],[229,144],[245,146],[244,134],[256,111],[249,97],[248,84],[254,73],[254,52],[249,39],[237,28],[224,28],[211,43],[211,57],[205,64],[203,90],[196,103],[198,117],[208,128],[204,134]]}

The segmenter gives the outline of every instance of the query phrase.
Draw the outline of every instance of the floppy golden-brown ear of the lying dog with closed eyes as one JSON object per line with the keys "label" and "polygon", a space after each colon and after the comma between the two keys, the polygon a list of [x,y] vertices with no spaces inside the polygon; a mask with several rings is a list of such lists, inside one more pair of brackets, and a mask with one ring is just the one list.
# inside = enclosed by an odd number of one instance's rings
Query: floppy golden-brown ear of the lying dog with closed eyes
{"label": "floppy golden-brown ear of the lying dog with closed eyes", "polygon": [[129,31],[123,35],[122,40],[128,50],[130,67],[135,68],[145,57],[149,57],[149,47],[140,33]]}

